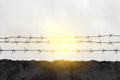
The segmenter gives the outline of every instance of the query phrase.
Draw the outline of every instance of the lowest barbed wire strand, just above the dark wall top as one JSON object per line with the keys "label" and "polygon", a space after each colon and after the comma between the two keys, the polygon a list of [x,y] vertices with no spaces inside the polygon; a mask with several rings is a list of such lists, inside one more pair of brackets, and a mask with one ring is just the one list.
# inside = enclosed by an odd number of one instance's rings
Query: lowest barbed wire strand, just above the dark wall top
{"label": "lowest barbed wire strand, just above the dark wall top", "polygon": [[81,52],[88,52],[88,53],[93,53],[93,52],[101,52],[102,54],[104,52],[115,52],[115,53],[118,53],[120,52],[120,49],[118,48],[115,48],[115,49],[87,49],[87,50],[79,50],[79,49],[76,49],[76,50],[68,50],[68,49],[62,49],[62,50],[43,50],[43,49],[28,49],[28,48],[25,48],[24,49],[2,49],[0,47],[0,53],[2,52],[12,52],[12,53],[15,53],[15,52],[38,52],[38,53],[42,53],[42,52],[51,52],[51,53],[55,53],[55,52],[62,52],[62,53],[81,53]]}

